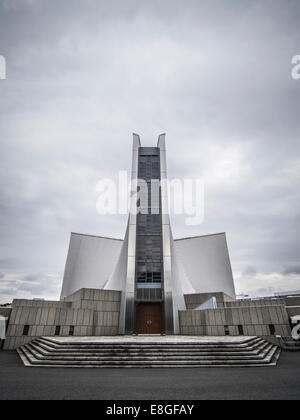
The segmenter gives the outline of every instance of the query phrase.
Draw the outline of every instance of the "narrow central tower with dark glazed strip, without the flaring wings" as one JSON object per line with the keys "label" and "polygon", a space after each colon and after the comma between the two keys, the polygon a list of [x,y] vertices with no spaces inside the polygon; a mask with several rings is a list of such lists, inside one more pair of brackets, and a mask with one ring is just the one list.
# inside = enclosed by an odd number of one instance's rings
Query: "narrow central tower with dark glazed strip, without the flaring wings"
{"label": "narrow central tower with dark glazed strip, without the flaring wings", "polygon": [[124,297],[126,333],[173,333],[165,180],[165,136],[159,136],[157,147],[142,147],[139,136],[134,134]]}

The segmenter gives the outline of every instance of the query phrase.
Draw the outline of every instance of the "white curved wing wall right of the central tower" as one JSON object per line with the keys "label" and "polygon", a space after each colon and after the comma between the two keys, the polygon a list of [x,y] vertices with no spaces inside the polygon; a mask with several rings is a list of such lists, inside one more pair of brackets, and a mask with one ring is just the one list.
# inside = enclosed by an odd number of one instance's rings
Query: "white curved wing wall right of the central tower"
{"label": "white curved wing wall right of the central tower", "polygon": [[174,245],[195,293],[224,292],[235,298],[225,233],[177,239]]}

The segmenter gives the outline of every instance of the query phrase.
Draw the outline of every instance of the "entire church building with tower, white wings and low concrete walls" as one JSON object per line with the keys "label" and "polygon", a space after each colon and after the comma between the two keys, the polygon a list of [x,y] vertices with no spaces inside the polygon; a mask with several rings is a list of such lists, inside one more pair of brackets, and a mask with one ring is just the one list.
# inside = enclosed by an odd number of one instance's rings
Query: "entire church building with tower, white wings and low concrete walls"
{"label": "entire church building with tower, white wings and low concrete walls", "polygon": [[164,134],[156,147],[143,147],[133,135],[131,178],[124,239],[72,233],[60,301],[14,300],[5,313],[4,348],[40,336],[245,335],[276,341],[291,334],[299,297],[236,300],[225,233],[173,239]]}

